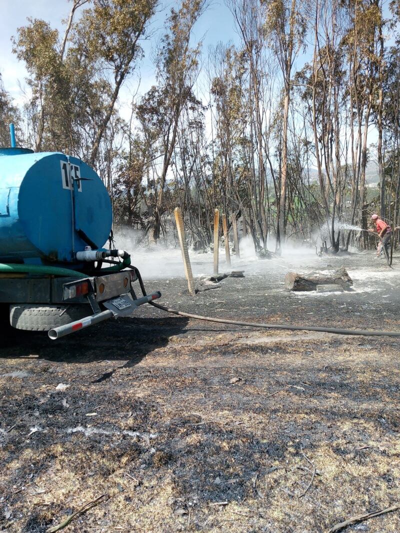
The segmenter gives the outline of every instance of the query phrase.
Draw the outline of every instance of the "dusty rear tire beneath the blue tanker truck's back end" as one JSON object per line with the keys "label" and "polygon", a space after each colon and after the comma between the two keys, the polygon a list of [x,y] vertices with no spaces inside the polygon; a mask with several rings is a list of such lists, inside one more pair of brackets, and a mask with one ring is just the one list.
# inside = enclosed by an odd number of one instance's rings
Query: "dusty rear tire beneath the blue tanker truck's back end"
{"label": "dusty rear tire beneath the blue tanker truck's back end", "polygon": [[11,304],[11,326],[27,331],[47,332],[93,314],[89,304]]}

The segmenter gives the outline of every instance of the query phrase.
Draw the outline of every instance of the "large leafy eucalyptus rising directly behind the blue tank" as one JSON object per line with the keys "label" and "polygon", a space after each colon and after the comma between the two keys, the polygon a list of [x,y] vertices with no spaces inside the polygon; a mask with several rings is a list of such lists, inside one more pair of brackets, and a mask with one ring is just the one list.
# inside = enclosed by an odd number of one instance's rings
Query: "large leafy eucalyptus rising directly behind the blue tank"
{"label": "large leafy eucalyptus rising directly behind the blue tank", "polygon": [[157,0],[75,0],[63,38],[49,23],[28,19],[14,52],[28,70],[27,106],[34,148],[68,150],[97,163],[119,91],[142,56]]}

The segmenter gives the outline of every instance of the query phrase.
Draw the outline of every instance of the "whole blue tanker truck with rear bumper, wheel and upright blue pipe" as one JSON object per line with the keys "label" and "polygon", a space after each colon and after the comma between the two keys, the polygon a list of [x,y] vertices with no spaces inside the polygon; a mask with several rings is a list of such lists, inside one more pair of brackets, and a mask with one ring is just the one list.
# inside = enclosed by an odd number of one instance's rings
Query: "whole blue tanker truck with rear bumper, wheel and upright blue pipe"
{"label": "whole blue tanker truck with rear bumper, wheel and upright blue pipe", "polygon": [[159,298],[113,248],[111,201],[93,168],[18,148],[13,125],[10,134],[11,148],[0,148],[0,307],[11,326],[54,340]]}

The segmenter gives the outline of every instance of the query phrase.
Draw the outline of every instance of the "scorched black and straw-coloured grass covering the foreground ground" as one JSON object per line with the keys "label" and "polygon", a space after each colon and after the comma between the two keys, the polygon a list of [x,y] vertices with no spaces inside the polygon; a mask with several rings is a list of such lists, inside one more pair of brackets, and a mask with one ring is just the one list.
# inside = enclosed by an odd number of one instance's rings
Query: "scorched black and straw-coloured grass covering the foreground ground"
{"label": "scorched black and straw-coloured grass covering the foreground ground", "polygon": [[[355,283],[349,293],[293,295],[278,268],[195,297],[183,279],[146,285],[188,312],[398,330],[397,278],[371,257],[334,259],[350,276],[373,274],[370,291]],[[223,326],[150,306],[56,342],[7,332],[0,531],[45,532],[100,495],[66,531],[322,532],[393,505],[399,346]],[[400,513],[346,531],[400,531]]]}

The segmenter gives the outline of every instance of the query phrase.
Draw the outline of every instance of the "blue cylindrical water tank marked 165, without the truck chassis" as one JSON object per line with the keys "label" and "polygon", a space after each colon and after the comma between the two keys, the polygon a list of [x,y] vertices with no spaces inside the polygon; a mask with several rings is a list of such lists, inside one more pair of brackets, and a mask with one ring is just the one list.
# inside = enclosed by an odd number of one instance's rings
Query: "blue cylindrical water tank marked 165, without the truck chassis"
{"label": "blue cylindrical water tank marked 165, without the truck chassis", "polygon": [[76,157],[0,148],[0,260],[75,262],[101,248],[113,214],[107,189]]}

